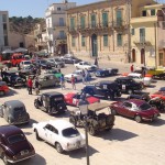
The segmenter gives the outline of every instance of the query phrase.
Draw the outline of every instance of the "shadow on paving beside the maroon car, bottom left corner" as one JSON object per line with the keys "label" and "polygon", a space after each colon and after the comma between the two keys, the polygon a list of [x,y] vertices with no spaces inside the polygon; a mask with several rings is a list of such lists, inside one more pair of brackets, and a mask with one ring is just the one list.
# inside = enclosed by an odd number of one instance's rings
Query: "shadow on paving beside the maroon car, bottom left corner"
{"label": "shadow on paving beside the maroon car, bottom left corner", "polygon": [[16,163],[16,165],[46,165],[43,156],[36,154],[34,157]]}

